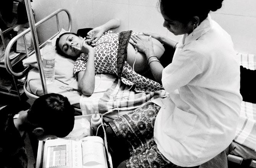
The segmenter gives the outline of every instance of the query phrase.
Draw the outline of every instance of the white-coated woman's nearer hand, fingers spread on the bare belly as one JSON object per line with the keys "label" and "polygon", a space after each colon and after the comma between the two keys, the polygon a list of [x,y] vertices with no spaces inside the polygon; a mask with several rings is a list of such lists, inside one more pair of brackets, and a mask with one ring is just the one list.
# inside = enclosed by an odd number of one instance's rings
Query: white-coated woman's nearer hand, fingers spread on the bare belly
{"label": "white-coated woman's nearer hand, fingers spread on the bare belly", "polygon": [[146,56],[154,55],[154,48],[151,36],[148,38],[141,38],[139,35],[131,36],[131,40],[129,41],[135,48],[138,49],[139,52],[145,53]]}

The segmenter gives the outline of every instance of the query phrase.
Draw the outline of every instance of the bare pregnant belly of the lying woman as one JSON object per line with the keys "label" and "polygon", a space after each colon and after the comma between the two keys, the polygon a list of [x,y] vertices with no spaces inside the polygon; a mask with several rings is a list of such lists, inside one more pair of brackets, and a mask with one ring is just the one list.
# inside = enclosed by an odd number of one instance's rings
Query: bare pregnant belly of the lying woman
{"label": "bare pregnant belly of the lying woman", "polygon": [[[145,35],[139,35],[141,38],[147,39],[148,36]],[[154,53],[158,57],[158,59],[163,55],[165,49],[164,46],[156,39],[152,38],[153,41],[153,48],[154,48]],[[130,43],[128,44],[127,47],[127,58],[126,62],[133,67],[133,63],[135,60],[135,48],[133,45]],[[138,74],[143,75],[147,70],[149,69],[149,66],[147,65],[147,58],[144,53],[138,52],[136,61],[134,64],[134,71]]]}

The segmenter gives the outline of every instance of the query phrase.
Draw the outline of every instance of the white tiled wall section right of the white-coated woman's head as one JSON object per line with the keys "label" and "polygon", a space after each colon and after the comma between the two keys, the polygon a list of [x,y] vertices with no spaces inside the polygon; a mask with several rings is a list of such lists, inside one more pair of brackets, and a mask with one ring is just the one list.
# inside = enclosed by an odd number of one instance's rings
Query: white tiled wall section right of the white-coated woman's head
{"label": "white tiled wall section right of the white-coated woman's head", "polygon": [[224,0],[212,16],[232,37],[235,49],[256,54],[256,0]]}

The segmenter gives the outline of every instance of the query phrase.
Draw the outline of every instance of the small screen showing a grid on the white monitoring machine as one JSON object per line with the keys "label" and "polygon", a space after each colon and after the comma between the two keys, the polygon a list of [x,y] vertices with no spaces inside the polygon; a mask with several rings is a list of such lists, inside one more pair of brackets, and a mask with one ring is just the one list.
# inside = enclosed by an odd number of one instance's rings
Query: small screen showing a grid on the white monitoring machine
{"label": "small screen showing a grid on the white monitoring machine", "polygon": [[46,168],[66,166],[66,145],[47,148]]}

